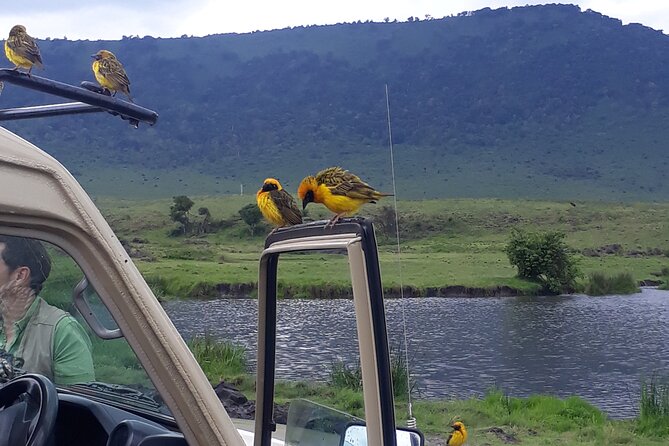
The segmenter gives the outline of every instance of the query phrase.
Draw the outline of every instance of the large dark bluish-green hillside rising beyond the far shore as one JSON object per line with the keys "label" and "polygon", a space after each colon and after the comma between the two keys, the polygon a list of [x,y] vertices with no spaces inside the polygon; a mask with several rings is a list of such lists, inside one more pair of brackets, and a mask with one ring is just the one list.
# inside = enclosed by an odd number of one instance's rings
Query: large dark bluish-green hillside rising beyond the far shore
{"label": "large dark bluish-green hillside rising beyond the far shore", "polygon": [[[96,195],[294,190],[332,164],[390,189],[387,84],[402,198],[669,196],[669,37],[575,6],[40,47],[37,74],[74,84],[114,51],[160,114],[6,125]],[[0,106],[40,99],[8,86]]]}

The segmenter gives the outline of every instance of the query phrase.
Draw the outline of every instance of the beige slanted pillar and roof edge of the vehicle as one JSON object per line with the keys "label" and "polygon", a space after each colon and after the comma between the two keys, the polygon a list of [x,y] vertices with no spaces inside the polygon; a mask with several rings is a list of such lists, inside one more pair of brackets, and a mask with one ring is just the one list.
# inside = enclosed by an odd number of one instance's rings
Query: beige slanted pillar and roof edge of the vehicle
{"label": "beige slanted pillar and roof edge of the vehicle", "polygon": [[188,346],[93,201],[58,161],[4,128],[0,229],[53,243],[77,260],[189,444],[244,444]]}

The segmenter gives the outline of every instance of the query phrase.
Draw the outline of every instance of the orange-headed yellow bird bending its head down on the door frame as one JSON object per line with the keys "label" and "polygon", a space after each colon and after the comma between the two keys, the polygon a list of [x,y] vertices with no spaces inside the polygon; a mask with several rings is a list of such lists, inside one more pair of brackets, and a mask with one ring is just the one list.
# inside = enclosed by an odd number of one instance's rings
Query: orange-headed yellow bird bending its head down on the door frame
{"label": "orange-headed yellow bird bending its head down on the door frame", "polygon": [[297,189],[297,196],[302,200],[302,209],[311,202],[324,204],[335,213],[329,223],[334,225],[341,217],[356,213],[363,204],[376,203],[392,194],[375,190],[348,170],[329,167],[316,176],[303,179]]}

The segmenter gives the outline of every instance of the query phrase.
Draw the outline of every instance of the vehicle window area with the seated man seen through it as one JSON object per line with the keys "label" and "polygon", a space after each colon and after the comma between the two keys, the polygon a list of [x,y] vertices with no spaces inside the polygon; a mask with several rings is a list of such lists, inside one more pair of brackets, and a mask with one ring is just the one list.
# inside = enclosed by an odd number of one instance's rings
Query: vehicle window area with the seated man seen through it
{"label": "vehicle window area with the seated man seen through it", "polygon": [[[39,373],[59,388],[138,410],[169,414],[123,337],[102,339],[74,305],[84,277],[62,249],[0,234],[0,357],[5,380]],[[118,330],[92,285],[83,290],[107,333]]]}

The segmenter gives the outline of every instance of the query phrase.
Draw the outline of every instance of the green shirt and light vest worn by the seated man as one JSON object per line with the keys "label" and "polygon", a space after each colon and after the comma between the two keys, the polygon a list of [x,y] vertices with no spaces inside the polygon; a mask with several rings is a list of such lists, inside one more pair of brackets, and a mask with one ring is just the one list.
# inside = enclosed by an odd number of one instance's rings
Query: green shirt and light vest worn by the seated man
{"label": "green shirt and light vest worn by the seated man", "polygon": [[[24,340],[24,335],[30,332],[41,333],[40,337],[45,340],[50,338],[51,345]],[[95,380],[91,340],[69,313],[38,296],[25,316],[14,324],[14,333],[12,343],[7,345],[4,327],[0,324],[0,348],[25,359],[23,370],[41,373],[59,385]]]}

